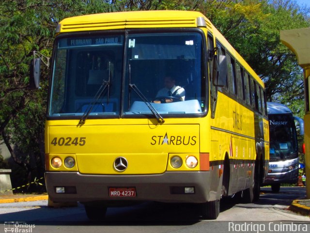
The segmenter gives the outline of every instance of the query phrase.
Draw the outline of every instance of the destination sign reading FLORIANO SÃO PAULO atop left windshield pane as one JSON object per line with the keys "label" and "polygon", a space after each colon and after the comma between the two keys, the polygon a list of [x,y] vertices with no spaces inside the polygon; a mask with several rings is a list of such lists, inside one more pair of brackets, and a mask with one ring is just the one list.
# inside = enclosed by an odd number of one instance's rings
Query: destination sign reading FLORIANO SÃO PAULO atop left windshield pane
{"label": "destination sign reading FLORIANO S\u00c3O PAULO atop left windshield pane", "polygon": [[65,47],[84,47],[100,45],[122,45],[123,36],[98,36],[87,38],[66,38],[59,41],[59,48]]}

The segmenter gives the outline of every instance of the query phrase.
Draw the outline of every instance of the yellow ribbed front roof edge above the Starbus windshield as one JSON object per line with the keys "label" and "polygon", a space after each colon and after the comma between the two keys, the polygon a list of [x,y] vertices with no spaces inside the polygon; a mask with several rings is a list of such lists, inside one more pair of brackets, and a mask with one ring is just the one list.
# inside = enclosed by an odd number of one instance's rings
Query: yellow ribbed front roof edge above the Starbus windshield
{"label": "yellow ribbed front roof edge above the Starbus windshield", "polygon": [[[60,22],[57,33],[93,30],[197,27],[197,18],[203,17],[195,11],[126,11],[100,13],[93,15],[65,18]],[[205,25],[204,25],[205,26]]]}

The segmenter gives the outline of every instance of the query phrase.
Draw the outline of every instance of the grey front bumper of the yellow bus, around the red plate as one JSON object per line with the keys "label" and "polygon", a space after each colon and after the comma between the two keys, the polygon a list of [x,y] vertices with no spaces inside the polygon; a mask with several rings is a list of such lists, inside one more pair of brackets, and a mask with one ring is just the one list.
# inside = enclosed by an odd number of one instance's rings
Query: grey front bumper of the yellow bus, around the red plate
{"label": "grey front bumper of the yellow bus, around the red plate", "polygon": [[[156,175],[85,175],[79,172],[46,172],[49,199],[64,201],[160,201],[202,203],[217,200],[218,190],[211,190],[210,172],[165,172]],[[213,183],[213,182],[212,182]],[[219,185],[215,185],[218,189]],[[64,193],[56,193],[64,187]],[[135,197],[110,197],[109,188],[135,188]],[[185,193],[194,187],[193,193]]]}

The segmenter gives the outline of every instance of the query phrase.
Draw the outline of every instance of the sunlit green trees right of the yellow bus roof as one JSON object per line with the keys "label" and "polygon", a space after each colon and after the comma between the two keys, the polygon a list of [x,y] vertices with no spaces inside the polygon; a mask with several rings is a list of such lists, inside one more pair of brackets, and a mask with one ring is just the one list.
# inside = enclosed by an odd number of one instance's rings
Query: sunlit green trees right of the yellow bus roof
{"label": "sunlit green trees right of the yellow bus roof", "polygon": [[267,99],[303,116],[302,70],[280,42],[279,31],[309,27],[310,10],[294,0],[217,0],[206,9],[212,9],[205,15],[264,81]]}

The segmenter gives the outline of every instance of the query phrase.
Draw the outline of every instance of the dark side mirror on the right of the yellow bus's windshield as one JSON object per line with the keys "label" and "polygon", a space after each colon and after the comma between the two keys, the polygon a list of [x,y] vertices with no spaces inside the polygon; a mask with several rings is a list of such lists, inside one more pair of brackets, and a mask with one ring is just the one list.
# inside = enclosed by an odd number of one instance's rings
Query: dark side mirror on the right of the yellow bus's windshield
{"label": "dark side mirror on the right of the yellow bus's windshield", "polygon": [[212,83],[215,86],[225,86],[227,79],[227,59],[225,55],[215,55],[213,58]]}

